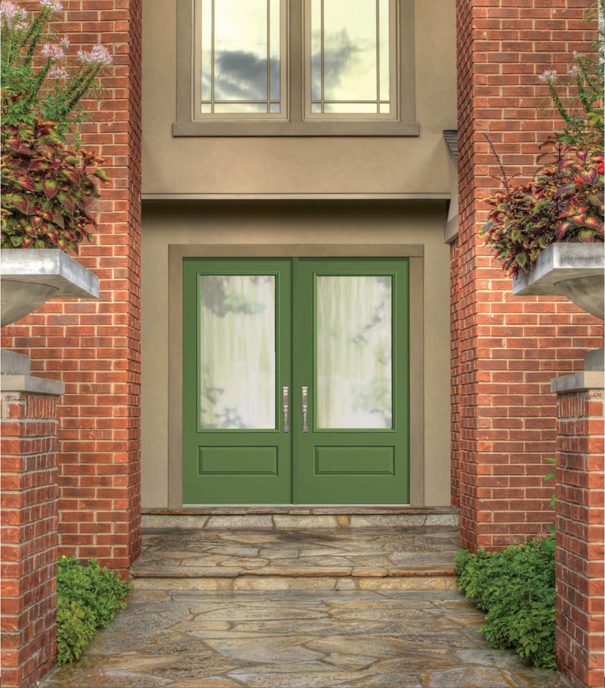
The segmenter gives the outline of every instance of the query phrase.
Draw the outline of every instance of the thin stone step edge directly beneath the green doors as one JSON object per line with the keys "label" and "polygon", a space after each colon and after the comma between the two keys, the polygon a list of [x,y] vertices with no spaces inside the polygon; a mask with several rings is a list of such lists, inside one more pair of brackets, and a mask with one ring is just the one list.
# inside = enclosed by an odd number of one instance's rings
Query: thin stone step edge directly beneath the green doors
{"label": "thin stone step edge directly beneath the green doors", "polygon": [[332,529],[459,525],[457,511],[402,514],[142,514],[144,529]]}

